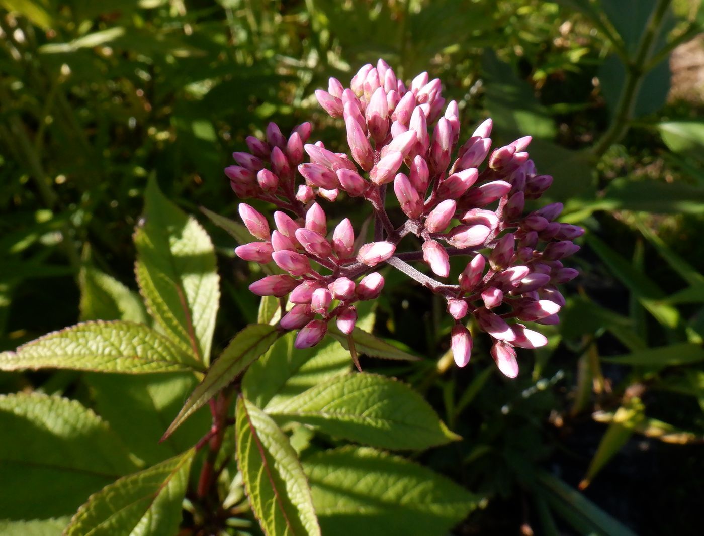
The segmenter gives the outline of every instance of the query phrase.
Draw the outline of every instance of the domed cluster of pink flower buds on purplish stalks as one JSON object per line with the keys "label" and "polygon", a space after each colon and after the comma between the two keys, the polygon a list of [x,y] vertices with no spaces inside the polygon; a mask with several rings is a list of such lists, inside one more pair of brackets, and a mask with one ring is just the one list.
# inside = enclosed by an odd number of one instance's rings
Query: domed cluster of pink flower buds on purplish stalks
{"label": "domed cluster of pink flower buds on purplish stalks", "polygon": [[[271,123],[266,141],[249,137],[250,152],[234,153],[238,165],[225,170],[239,197],[281,209],[274,212],[270,231],[263,215],[240,205],[241,218],[258,241],[239,246],[237,255],[274,262],[285,272],[256,281],[250,290],[288,296],[291,307],[280,325],[299,330],[296,347],[310,347],[322,340],[332,319],[340,331],[351,333],[357,318],[353,304],[379,295],[384,279],[372,268],[387,264],[446,298],[455,321],[451,348],[458,366],[470,360],[472,336],[464,323],[471,315],[491,337],[498,368],[517,376],[515,348],[547,343],[525,323],[558,322],[565,300],[557,285],[578,274],[562,260],[579,250],[573,240],[583,233],[556,221],[560,203],[524,214],[526,201],[539,198],[553,180],[537,174],[529,160],[530,136],[491,151],[492,122],[486,120],[460,145],[458,105],[446,103],[439,79],[429,80],[424,72],[406,86],[383,60],[361,68],[350,87],[331,78],[327,91],[315,95],[329,115],[344,120],[348,154],[329,151],[320,141],[306,144],[308,123],[288,138]],[[406,217],[401,224],[386,213],[388,186]],[[341,194],[372,205],[372,241],[362,236],[356,243],[349,219],[329,234],[320,203]],[[422,241],[421,250],[398,253],[396,246],[408,234]],[[445,279],[454,255],[470,257],[457,284],[432,279],[408,264],[423,262]]]}

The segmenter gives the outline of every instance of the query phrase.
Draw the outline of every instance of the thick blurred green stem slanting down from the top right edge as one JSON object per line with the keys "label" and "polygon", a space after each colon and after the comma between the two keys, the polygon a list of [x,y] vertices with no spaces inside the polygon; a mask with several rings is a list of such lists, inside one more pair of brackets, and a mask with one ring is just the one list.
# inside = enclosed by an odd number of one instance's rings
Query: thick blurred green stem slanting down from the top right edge
{"label": "thick blurred green stem slanting down from the top right edge", "polygon": [[648,74],[646,65],[653,55],[653,46],[655,46],[655,41],[660,33],[662,19],[665,17],[667,8],[670,7],[670,1],[658,0],[658,4],[648,20],[646,30],[643,32],[643,37],[641,37],[636,56],[626,65],[626,79],[616,106],[614,119],[601,139],[592,148],[592,154],[596,158],[601,158],[610,146],[622,139],[629,128],[643,78]]}

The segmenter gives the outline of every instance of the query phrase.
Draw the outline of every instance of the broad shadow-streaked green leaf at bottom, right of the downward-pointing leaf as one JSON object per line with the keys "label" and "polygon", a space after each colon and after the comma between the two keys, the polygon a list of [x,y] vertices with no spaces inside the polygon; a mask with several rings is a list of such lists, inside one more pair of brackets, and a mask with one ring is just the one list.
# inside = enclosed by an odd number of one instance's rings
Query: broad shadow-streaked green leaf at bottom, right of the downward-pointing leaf
{"label": "broad shadow-streaked green leaf at bottom, right of the downward-pointing leaf", "polygon": [[320,452],[303,469],[323,534],[445,536],[481,501],[429,468],[369,447]]}

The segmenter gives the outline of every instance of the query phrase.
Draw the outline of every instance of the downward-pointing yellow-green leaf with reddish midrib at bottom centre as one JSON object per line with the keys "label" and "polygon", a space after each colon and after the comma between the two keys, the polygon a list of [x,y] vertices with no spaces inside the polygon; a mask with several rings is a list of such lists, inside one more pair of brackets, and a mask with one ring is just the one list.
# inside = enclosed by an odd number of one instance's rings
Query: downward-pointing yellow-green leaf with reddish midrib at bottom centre
{"label": "downward-pointing yellow-green leaf with reddish midrib at bottom centre", "polygon": [[237,464],[265,535],[320,535],[306,476],[286,435],[243,397],[236,419]]}

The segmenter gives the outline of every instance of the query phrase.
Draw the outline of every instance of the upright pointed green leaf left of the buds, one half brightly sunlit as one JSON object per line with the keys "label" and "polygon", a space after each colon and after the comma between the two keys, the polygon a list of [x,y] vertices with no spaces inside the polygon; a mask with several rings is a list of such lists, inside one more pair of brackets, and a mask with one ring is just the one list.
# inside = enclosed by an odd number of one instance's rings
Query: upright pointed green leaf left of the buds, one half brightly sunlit
{"label": "upright pointed green leaf left of the buds, one half brightly sunlit", "polygon": [[154,319],[198,361],[208,364],[220,287],[206,231],[150,179],[144,217],[134,231],[137,283]]}

